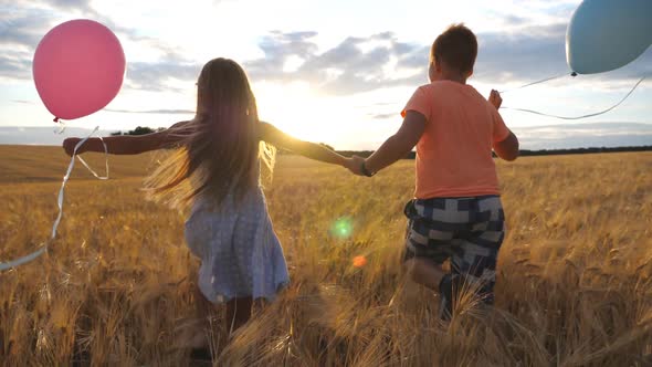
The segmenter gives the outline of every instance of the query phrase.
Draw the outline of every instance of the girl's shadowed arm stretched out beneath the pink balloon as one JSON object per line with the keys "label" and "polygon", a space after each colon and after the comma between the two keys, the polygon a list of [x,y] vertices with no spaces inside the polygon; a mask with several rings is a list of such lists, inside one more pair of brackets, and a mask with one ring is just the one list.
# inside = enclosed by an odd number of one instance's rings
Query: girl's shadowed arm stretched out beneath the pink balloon
{"label": "girl's shadowed arm stretched out beneath the pink balloon", "polygon": [[[106,144],[106,148],[109,154],[116,155],[136,155],[145,151],[157,150],[178,144],[183,134],[183,127],[188,122],[181,122],[172,125],[170,128],[162,132],[145,135],[118,135],[107,136],[102,138]],[[63,141],[63,148],[69,156],[73,155],[75,145],[80,141],[80,138],[67,138]],[[97,151],[104,153],[104,145],[99,138],[90,138],[80,147],[77,154],[85,151]]]}

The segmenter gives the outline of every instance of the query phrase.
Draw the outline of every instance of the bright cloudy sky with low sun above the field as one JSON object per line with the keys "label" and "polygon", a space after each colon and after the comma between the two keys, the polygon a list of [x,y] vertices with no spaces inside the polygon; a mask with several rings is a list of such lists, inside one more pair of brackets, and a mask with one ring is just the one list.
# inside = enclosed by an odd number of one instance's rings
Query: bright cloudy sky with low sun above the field
{"label": "bright cloudy sky with low sun above the field", "polygon": [[[66,122],[70,127],[124,130],[190,119],[201,66],[223,56],[248,72],[262,119],[338,149],[374,149],[399,127],[414,90],[428,83],[430,45],[449,24],[464,22],[477,34],[469,83],[488,95],[570,73],[565,34],[579,2],[0,0],[0,143],[36,144],[28,127],[52,130],[31,63],[41,38],[67,20],[104,23],[127,57],[118,96],[96,114]],[[652,76],[650,49],[618,71],[504,93],[504,106],[583,115],[617,103],[643,75]],[[593,118],[501,113],[524,148],[652,145],[650,101],[652,80]]]}

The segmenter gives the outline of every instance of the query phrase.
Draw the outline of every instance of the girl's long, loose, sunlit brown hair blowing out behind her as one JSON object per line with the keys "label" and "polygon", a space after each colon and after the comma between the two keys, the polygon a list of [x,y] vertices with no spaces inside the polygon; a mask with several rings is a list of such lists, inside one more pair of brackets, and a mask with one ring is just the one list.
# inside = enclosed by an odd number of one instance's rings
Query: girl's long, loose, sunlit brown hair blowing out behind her
{"label": "girl's long, loose, sunlit brown hair blowing out behind her", "polygon": [[[260,185],[259,157],[270,172],[274,148],[260,140],[255,97],[244,70],[232,60],[209,61],[197,82],[194,118],[169,132],[181,143],[146,181],[151,197],[186,207],[199,196],[219,205]],[[261,143],[260,143],[261,141]]]}

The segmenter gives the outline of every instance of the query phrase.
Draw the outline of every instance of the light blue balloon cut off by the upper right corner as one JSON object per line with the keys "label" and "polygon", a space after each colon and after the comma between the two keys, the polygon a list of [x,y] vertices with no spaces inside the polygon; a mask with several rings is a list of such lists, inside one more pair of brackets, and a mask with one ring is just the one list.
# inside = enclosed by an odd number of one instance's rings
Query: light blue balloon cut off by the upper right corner
{"label": "light blue balloon cut off by the upper right corner", "polygon": [[566,32],[566,61],[579,74],[629,64],[652,44],[652,0],[585,0]]}

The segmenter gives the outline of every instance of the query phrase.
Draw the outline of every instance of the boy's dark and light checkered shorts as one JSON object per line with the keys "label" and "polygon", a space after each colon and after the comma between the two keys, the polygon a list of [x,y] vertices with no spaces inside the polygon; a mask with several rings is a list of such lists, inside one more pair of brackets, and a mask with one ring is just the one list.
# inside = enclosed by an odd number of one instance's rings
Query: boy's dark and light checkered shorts
{"label": "boy's dark and light checkered shorts", "polygon": [[409,219],[406,260],[451,261],[451,274],[476,282],[486,303],[493,303],[498,250],[505,238],[505,214],[498,196],[414,199],[406,206]]}

